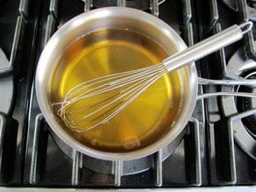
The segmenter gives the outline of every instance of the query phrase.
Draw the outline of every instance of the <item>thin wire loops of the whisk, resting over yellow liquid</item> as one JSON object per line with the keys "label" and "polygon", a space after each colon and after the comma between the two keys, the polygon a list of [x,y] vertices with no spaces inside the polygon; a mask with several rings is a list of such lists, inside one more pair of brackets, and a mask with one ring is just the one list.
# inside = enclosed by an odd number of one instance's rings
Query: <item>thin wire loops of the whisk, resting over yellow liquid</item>
{"label": "thin wire loops of the whisk, resting over yellow liquid", "polygon": [[165,73],[167,69],[161,64],[98,77],[76,85],[63,101],[52,106],[57,105],[58,116],[69,128],[89,131],[124,110]]}

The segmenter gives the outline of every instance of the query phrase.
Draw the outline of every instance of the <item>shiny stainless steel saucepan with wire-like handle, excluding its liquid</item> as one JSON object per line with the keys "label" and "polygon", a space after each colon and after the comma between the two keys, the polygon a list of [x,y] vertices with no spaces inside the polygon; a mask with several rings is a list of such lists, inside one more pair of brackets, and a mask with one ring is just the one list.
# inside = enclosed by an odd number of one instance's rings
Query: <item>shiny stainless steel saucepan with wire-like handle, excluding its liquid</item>
{"label": "shiny stainless steel saucepan with wire-like handle, excluding its liquid", "polygon": [[[65,52],[67,47],[70,46],[75,39],[79,39],[86,34],[103,29],[126,29],[131,30],[132,32],[139,32],[139,34],[143,34],[144,36],[153,39],[160,46],[165,47],[165,50],[170,55],[187,48],[181,37],[174,32],[174,29],[159,18],[155,18],[153,15],[144,11],[134,10],[131,8],[108,7],[82,13],[68,21],[68,23],[61,26],[60,29],[55,32],[53,37],[46,44],[46,47],[40,56],[35,82],[39,107],[53,132],[68,144],[68,146],[75,148],[77,151],[103,160],[139,159],[151,153],[155,153],[160,150],[160,148],[167,146],[176,137],[178,137],[185,125],[188,123],[196,105],[197,97],[203,97],[197,96],[198,77],[196,74],[196,66],[195,63],[191,62],[189,65],[178,69],[182,77],[181,83],[183,84],[184,89],[182,96],[184,99],[180,109],[180,116],[175,122],[174,127],[166,132],[160,139],[144,148],[124,153],[103,152],[89,146],[85,146],[71,137],[68,132],[63,129],[63,124],[60,123],[60,120],[56,117],[56,114],[50,105],[49,85],[51,83],[54,69],[57,67],[57,61],[60,59],[60,56]],[[217,84],[239,84],[244,82],[216,82],[204,80],[202,78],[199,80],[201,83]],[[248,82],[248,84],[253,83]],[[231,93],[223,94],[231,95]],[[206,97],[207,96],[211,95],[206,95]]]}

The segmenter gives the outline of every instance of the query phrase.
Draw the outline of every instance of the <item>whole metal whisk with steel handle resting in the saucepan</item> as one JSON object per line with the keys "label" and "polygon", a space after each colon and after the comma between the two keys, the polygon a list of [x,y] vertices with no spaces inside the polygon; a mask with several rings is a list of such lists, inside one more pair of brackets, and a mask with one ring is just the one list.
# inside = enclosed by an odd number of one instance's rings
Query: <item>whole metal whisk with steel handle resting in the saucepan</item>
{"label": "whole metal whisk with steel handle resting in the saucepan", "polygon": [[[252,22],[233,25],[195,46],[175,53],[160,64],[82,82],[70,89],[62,101],[52,103],[52,106],[68,128],[75,132],[89,131],[115,117],[166,73],[230,45],[251,28]],[[77,104],[82,104],[82,107],[74,111]],[[79,125],[81,122],[82,126]]]}

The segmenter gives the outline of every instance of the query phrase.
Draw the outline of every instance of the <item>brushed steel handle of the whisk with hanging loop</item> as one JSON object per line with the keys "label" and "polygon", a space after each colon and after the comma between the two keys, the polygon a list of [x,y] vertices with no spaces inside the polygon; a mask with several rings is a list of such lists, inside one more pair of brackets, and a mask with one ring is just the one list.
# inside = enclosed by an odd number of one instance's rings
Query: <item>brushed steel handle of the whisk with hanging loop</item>
{"label": "brushed steel handle of the whisk with hanging loop", "polygon": [[204,39],[194,46],[190,46],[181,51],[180,53],[175,53],[174,55],[163,60],[163,63],[168,72],[181,68],[193,61],[199,60],[204,56],[217,51],[220,48],[223,48],[224,46],[231,45],[231,43],[242,39],[243,35],[246,32],[249,32],[251,29],[251,21],[247,21],[241,25],[232,25],[224,31],[218,32],[210,38]]}

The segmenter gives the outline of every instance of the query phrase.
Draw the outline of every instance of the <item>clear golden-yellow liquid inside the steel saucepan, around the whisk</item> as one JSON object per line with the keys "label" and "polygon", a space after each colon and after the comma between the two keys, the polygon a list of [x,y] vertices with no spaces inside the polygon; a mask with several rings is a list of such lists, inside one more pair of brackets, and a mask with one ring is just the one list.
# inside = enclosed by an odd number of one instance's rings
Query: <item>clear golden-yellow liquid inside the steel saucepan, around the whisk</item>
{"label": "clear golden-yellow liquid inside the steel saucepan, around the whisk", "polygon": [[[79,83],[145,68],[167,56],[161,46],[136,32],[108,29],[90,33],[75,40],[58,60],[51,79],[51,101],[61,101]],[[163,75],[117,116],[90,131],[73,132],[59,118],[60,124],[84,145],[101,151],[120,153],[148,146],[168,132],[179,115],[180,78],[178,71]],[[80,109],[74,105],[72,113]]]}

